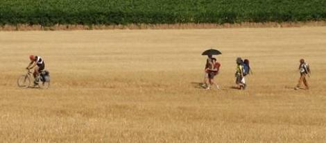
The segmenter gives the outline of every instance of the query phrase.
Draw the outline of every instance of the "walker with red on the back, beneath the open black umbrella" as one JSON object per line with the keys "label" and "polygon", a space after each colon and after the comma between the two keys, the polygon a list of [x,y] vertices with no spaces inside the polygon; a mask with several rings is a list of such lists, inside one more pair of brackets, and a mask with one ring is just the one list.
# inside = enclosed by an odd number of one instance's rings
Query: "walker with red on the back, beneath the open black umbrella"
{"label": "walker with red on the back, beneath the open black umbrella", "polygon": [[208,81],[209,81],[206,90],[210,90],[210,85],[216,85],[216,88],[220,89],[220,87],[216,83],[214,83],[214,76],[218,74],[220,67],[221,64],[219,62],[216,62],[216,58],[212,58],[212,60],[209,61],[207,69],[205,69],[205,71],[208,74]]}

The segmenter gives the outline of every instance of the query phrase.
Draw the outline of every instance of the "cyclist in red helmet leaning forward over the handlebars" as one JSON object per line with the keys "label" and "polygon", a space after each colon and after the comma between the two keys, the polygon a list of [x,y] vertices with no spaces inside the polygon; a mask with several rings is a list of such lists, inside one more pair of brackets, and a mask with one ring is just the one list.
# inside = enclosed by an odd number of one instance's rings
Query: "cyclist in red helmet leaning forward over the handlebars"
{"label": "cyclist in red helmet leaning forward over the handlebars", "polygon": [[40,80],[40,73],[45,68],[44,60],[40,56],[29,56],[31,62],[26,67],[26,69],[33,69],[34,67],[34,85],[37,85],[38,81]]}

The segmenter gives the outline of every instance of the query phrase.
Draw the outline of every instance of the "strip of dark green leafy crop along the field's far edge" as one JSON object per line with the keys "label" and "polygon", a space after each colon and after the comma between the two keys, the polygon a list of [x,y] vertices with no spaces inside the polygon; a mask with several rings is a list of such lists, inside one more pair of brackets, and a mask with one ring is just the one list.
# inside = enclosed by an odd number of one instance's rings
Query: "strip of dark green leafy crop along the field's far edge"
{"label": "strip of dark green leafy crop along the field's far edge", "polygon": [[326,0],[0,0],[0,25],[305,22]]}

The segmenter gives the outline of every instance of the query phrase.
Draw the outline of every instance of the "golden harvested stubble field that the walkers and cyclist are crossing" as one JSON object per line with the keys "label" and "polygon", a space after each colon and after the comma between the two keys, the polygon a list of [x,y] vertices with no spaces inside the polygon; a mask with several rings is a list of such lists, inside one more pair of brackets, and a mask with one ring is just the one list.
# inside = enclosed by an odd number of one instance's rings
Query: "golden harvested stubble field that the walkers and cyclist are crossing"
{"label": "golden harvested stubble field that the walkers and cyclist are crossing", "polygon": [[[207,47],[221,90],[199,87]],[[0,50],[1,142],[326,142],[326,27],[0,32]],[[16,85],[32,53],[49,90]],[[293,90],[300,58],[309,91]]]}

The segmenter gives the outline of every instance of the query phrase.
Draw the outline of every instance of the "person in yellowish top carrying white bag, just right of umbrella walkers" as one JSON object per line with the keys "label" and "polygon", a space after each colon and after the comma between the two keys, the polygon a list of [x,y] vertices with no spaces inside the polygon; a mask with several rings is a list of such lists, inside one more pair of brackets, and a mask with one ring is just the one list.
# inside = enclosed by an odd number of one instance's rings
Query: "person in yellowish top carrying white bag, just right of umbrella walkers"
{"label": "person in yellowish top carrying white bag, just right of umbrella walkers", "polygon": [[237,58],[237,72],[235,73],[237,88],[239,90],[245,90],[246,89],[246,81],[243,76],[244,67],[243,67],[243,60],[241,58]]}

